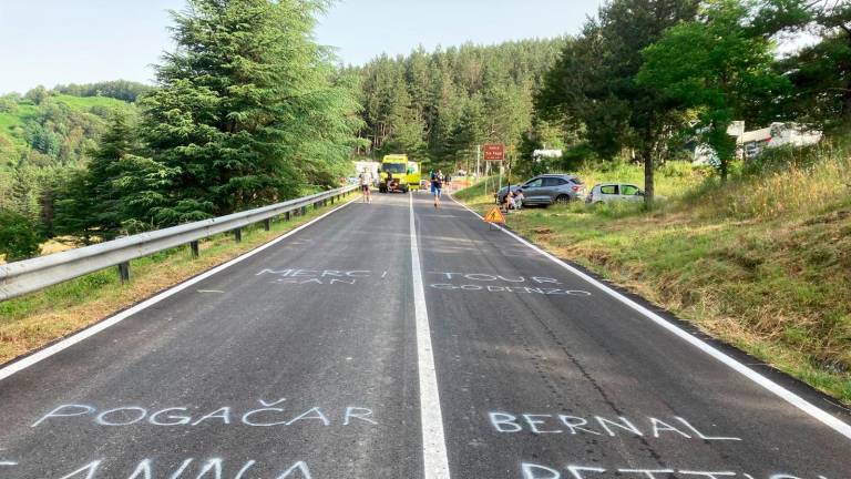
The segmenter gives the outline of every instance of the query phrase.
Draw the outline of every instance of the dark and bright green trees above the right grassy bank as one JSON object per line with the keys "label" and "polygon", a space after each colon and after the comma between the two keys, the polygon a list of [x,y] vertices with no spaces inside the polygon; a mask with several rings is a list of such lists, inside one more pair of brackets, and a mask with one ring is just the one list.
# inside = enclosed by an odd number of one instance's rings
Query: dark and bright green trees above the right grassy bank
{"label": "dark and bright green trees above the right grassy bank", "polygon": [[[777,54],[778,39],[819,41]],[[722,180],[735,157],[732,121],[797,120],[813,129],[851,121],[851,3],[813,0],[612,0],[570,39],[535,111],[602,159],[654,165],[686,139],[709,145]]]}

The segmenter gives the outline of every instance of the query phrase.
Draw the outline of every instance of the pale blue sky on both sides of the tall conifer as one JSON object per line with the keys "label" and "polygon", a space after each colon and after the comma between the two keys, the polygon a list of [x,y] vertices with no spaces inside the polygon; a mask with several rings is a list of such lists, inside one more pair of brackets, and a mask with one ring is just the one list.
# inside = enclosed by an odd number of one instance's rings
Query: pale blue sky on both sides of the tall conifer
{"label": "pale blue sky on both sides of the tall conifer", "polygon": [[[316,39],[362,64],[418,45],[575,34],[602,0],[346,0]],[[170,9],[185,0],[0,0],[0,94],[42,84],[153,81],[173,43]]]}

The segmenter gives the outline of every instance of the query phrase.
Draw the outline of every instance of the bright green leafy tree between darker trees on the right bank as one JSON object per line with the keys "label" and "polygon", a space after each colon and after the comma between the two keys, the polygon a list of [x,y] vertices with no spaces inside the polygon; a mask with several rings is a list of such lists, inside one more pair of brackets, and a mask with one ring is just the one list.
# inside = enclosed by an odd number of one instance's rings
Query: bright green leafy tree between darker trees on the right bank
{"label": "bright green leafy tree between darker trees on the right bank", "polygon": [[736,154],[727,128],[735,120],[749,123],[760,105],[789,90],[788,80],[772,69],[771,43],[753,28],[756,7],[741,0],[706,2],[698,20],[670,28],[644,50],[638,73],[639,84],[696,111],[696,130],[718,154],[722,180]]}

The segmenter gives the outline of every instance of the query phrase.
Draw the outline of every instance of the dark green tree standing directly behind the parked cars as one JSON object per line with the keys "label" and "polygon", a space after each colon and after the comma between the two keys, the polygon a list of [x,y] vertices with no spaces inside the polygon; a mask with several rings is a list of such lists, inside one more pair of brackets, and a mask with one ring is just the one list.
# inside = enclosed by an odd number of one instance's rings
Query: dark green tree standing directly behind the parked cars
{"label": "dark green tree standing directly behind the parked cars", "polygon": [[645,164],[648,202],[654,193],[654,157],[664,150],[671,125],[684,119],[657,90],[636,81],[644,63],[640,52],[666,29],[693,20],[697,3],[609,1],[597,19],[586,22],[582,35],[564,45],[535,98],[541,115],[582,129],[583,139],[599,156],[614,157],[624,147],[637,150]]}

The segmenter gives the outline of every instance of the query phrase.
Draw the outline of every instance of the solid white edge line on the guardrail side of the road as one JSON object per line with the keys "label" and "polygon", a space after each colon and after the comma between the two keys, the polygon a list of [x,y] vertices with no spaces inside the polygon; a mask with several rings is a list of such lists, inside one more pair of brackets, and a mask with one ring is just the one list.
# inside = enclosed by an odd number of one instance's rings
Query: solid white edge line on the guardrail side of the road
{"label": "solid white edge line on the guardrail side of the road", "polygon": [[252,251],[249,251],[248,253],[246,253],[246,254],[244,254],[242,256],[238,256],[238,257],[236,257],[234,259],[230,259],[229,262],[227,262],[225,264],[218,265],[218,266],[214,267],[213,269],[211,269],[211,271],[208,271],[206,273],[203,273],[203,274],[201,274],[198,276],[195,276],[194,278],[192,278],[192,279],[189,279],[189,281],[187,281],[185,283],[181,283],[181,284],[178,284],[178,285],[176,285],[176,286],[174,286],[174,287],[172,287],[170,289],[166,289],[166,291],[160,293],[156,296],[147,298],[144,302],[142,302],[142,303],[140,303],[140,304],[137,304],[137,305],[135,305],[135,306],[133,306],[133,307],[131,307],[129,309],[125,309],[125,310],[123,310],[123,312],[121,312],[121,313],[119,313],[119,314],[116,314],[116,315],[114,315],[114,316],[112,316],[112,317],[110,317],[107,319],[104,319],[104,320],[95,324],[94,326],[91,326],[91,327],[89,327],[86,329],[83,329],[82,332],[80,332],[80,333],[78,333],[78,334],[75,334],[73,336],[70,336],[70,337],[68,337],[65,339],[62,339],[62,340],[60,340],[59,343],[57,343],[57,344],[54,344],[52,346],[48,346],[44,349],[41,349],[41,350],[39,350],[37,353],[33,353],[30,356],[27,356],[27,357],[24,357],[24,358],[22,358],[20,360],[17,360],[17,361],[10,364],[9,366],[0,369],[0,380],[3,380],[3,379],[8,378],[9,376],[11,376],[11,375],[13,375],[13,374],[16,374],[18,371],[27,369],[28,367],[30,367],[30,366],[32,366],[32,365],[41,361],[41,360],[44,360],[44,359],[53,356],[54,354],[57,354],[57,353],[59,353],[59,351],[61,351],[63,349],[68,349],[69,347],[73,346],[73,345],[75,345],[75,344],[78,344],[78,343],[80,343],[80,342],[82,342],[82,340],[84,340],[84,339],[86,339],[89,337],[92,337],[92,336],[96,335],[98,333],[109,328],[110,326],[114,326],[114,325],[123,322],[124,319],[133,316],[134,314],[136,314],[139,312],[141,312],[141,310],[143,310],[143,309],[145,309],[147,307],[151,307],[151,306],[160,303],[161,300],[163,300],[163,299],[165,299],[165,298],[167,298],[170,296],[174,296],[175,294],[182,292],[183,289],[186,289],[187,287],[189,287],[189,286],[192,286],[194,284],[197,284],[197,283],[199,283],[199,282],[202,282],[202,281],[204,281],[204,279],[215,275],[216,273],[219,273],[219,272],[222,272],[222,271],[224,271],[224,269],[226,269],[226,268],[228,268],[228,267],[230,267],[230,266],[233,266],[233,265],[235,265],[235,264],[237,264],[237,263],[239,263],[239,262],[242,262],[244,259],[247,259],[247,258],[256,255],[257,253],[259,253],[259,252],[262,252],[262,251],[264,251],[264,249],[266,249],[268,247],[271,247],[271,246],[276,245],[277,243],[280,243],[281,241],[286,240],[287,237],[293,236],[294,234],[300,232],[301,230],[312,225],[314,223],[317,223],[318,221],[325,218],[326,216],[328,216],[328,215],[330,215],[332,213],[336,213],[337,211],[339,211],[339,210],[341,210],[341,208],[344,208],[344,207],[346,207],[346,206],[348,206],[350,204],[351,204],[351,202],[342,204],[342,205],[340,205],[340,206],[329,211],[328,213],[325,213],[321,216],[318,216],[318,217],[316,217],[316,218],[314,218],[314,220],[303,224],[301,226],[298,226],[297,228],[295,228],[295,230],[293,230],[293,231],[290,231],[290,232],[288,232],[288,233],[286,233],[284,235],[281,235],[281,236],[270,241],[269,243],[266,243],[265,245],[263,245],[263,246],[260,246],[260,247],[258,247],[256,249],[252,249]]}

